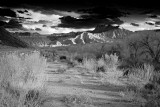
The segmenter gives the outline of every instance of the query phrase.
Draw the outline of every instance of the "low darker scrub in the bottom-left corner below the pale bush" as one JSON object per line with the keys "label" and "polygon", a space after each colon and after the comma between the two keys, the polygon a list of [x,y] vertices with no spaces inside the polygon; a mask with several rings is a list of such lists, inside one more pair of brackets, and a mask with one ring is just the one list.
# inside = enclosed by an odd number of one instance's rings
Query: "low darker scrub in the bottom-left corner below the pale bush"
{"label": "low darker scrub in the bottom-left corner below the pale bush", "polygon": [[10,92],[0,90],[0,107],[41,107],[45,103],[46,98],[40,91],[9,88]]}

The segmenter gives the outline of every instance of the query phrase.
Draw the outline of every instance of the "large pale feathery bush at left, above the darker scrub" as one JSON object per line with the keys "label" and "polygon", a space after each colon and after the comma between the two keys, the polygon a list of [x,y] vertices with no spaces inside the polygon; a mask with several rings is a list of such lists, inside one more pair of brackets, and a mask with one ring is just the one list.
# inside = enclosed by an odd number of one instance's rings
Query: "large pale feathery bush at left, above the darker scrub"
{"label": "large pale feathery bush at left, above the darker scrub", "polygon": [[46,59],[38,51],[31,53],[14,52],[0,56],[1,84],[10,83],[23,89],[43,87]]}

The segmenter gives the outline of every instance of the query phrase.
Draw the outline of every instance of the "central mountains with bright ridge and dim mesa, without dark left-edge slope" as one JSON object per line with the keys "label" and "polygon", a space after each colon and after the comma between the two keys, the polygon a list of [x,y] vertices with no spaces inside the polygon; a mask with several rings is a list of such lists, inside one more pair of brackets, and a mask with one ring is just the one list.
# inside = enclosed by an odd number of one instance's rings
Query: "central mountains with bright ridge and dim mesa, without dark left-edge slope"
{"label": "central mountains with bright ridge and dim mesa, without dark left-edge slope", "polygon": [[93,31],[41,35],[30,32],[12,33],[33,47],[57,47],[89,43],[107,43],[124,39],[134,32],[118,26],[98,25]]}

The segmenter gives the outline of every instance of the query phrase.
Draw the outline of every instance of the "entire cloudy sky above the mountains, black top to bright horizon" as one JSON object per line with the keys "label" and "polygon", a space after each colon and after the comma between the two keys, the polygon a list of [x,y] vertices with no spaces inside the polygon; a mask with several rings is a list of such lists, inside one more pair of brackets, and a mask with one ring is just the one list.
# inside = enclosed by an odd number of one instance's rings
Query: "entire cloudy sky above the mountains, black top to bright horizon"
{"label": "entire cloudy sky above the mountains, black top to bright horizon", "polygon": [[0,26],[10,32],[40,34],[94,30],[117,25],[130,31],[160,29],[155,1],[136,0],[1,0]]}

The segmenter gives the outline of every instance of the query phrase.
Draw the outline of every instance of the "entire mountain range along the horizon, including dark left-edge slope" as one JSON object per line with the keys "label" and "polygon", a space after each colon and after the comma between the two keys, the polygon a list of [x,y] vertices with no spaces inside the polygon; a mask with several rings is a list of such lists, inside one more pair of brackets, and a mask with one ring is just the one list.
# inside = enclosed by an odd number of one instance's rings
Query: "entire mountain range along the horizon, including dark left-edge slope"
{"label": "entire mountain range along the horizon, including dark left-edge slope", "polygon": [[90,43],[111,43],[115,40],[123,40],[134,33],[135,32],[126,29],[121,29],[119,26],[111,25],[98,25],[93,31],[55,33],[51,35],[41,35],[39,33],[30,32],[10,33],[3,27],[0,27],[0,43],[1,45],[22,48],[58,47]]}

